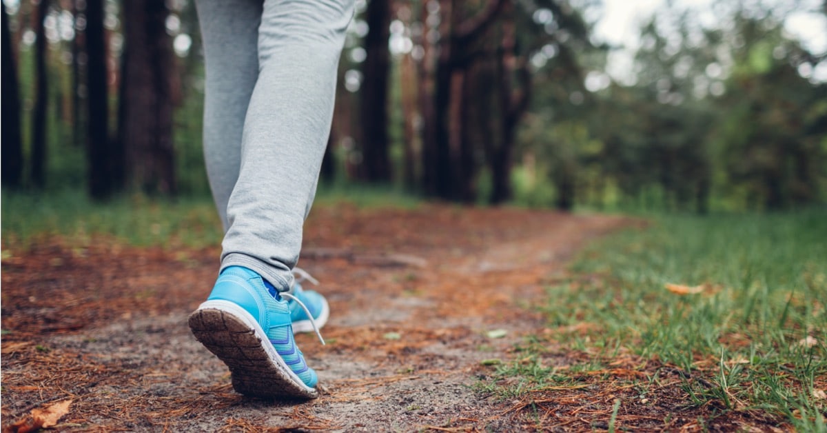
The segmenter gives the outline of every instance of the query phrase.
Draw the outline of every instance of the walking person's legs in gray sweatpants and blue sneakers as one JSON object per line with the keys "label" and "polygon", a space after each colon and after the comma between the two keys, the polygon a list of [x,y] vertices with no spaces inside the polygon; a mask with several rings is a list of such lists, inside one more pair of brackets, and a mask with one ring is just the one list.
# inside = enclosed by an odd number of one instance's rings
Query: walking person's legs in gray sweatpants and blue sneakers
{"label": "walking person's legs in gray sweatpants and blue sneakers", "polygon": [[[222,217],[226,233],[221,272],[208,300],[189,316],[189,326],[198,341],[230,368],[238,392],[318,397],[318,378],[295,344],[293,324],[299,325],[306,316],[313,328],[323,325],[324,310],[316,314],[319,311],[305,304],[323,307],[325,303],[313,292],[288,289],[327,142],[337,62],[352,0],[265,0],[259,9],[255,46],[249,44],[248,32],[235,38],[241,29],[232,18],[243,12],[245,22],[255,20],[255,13],[246,13],[253,10],[248,7],[255,0],[199,1],[199,19],[208,33],[204,39],[210,111],[205,122],[214,123],[208,127],[217,134],[210,137],[213,147],[205,148],[205,154],[213,165],[210,179],[218,211],[226,209],[227,218]],[[227,50],[256,53],[251,94],[245,93],[249,87],[232,94],[231,85],[233,79],[243,85],[251,79],[253,62],[248,53],[235,53],[244,59],[242,64],[213,63],[235,61]],[[249,103],[237,146],[237,123],[227,131],[222,116],[237,122],[245,99]],[[229,184],[232,192],[227,200],[222,194]],[[292,304],[303,307],[304,315],[297,314]],[[313,318],[319,323],[314,324]]]}

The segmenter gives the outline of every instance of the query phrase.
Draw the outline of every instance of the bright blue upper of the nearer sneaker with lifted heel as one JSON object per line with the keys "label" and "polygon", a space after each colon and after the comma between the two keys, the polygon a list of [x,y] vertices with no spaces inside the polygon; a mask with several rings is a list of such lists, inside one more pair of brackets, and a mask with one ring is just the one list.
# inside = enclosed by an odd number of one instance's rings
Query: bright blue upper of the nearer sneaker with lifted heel
{"label": "bright blue upper of the nearer sneaker with lifted heel", "polygon": [[316,386],[316,372],[308,367],[293,337],[292,309],[288,301],[278,296],[278,292],[272,295],[259,274],[246,267],[227,267],[218,276],[208,300],[231,301],[250,313],[293,373],[308,387]]}

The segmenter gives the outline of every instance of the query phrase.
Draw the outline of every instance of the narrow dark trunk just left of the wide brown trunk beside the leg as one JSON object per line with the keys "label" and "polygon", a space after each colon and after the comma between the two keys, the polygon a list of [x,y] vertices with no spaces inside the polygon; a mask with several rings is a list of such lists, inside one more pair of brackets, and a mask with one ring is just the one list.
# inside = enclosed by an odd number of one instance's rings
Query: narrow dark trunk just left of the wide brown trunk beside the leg
{"label": "narrow dark trunk just left of the wide brown trunk beside the leg", "polygon": [[88,186],[89,195],[96,200],[107,198],[117,186],[109,142],[108,55],[103,30],[103,2],[86,1]]}

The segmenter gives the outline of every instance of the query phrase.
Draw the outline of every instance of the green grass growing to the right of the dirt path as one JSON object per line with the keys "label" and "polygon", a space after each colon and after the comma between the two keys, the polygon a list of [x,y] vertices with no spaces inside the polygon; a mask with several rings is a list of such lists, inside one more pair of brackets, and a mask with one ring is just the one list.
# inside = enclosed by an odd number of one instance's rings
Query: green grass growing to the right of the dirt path
{"label": "green grass growing to the right of the dirt path", "polygon": [[[667,283],[704,286],[677,295]],[[691,372],[691,405],[781,416],[825,431],[827,212],[659,216],[595,243],[571,275],[547,289],[551,334],[484,385],[504,396],[576,383],[600,361],[631,355]],[[577,328],[576,328],[577,327]],[[802,344],[805,339],[815,344]],[[543,367],[545,345],[588,354],[566,370]],[[578,371],[579,370],[579,371]],[[647,387],[645,382],[643,392]]]}

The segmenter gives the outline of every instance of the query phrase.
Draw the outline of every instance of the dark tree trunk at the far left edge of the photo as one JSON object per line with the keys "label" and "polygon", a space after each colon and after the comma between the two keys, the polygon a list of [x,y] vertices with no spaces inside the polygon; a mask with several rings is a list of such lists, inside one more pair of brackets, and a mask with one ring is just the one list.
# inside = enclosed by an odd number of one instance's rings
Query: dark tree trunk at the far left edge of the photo
{"label": "dark tree trunk at the far left edge of the photo", "polygon": [[2,3],[2,185],[19,188],[23,180],[20,89],[12,51],[6,3]]}

